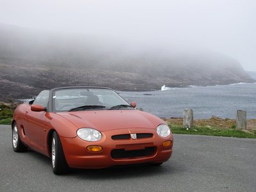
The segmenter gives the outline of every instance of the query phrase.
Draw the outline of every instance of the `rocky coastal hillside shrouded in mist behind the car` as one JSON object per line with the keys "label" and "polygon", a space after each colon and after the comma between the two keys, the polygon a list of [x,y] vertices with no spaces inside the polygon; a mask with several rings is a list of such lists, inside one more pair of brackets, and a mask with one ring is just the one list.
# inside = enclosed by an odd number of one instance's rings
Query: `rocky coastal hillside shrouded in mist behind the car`
{"label": "rocky coastal hillside shrouded in mist behind the car", "polygon": [[159,90],[255,82],[241,64],[218,52],[114,40],[0,24],[0,100],[56,86]]}

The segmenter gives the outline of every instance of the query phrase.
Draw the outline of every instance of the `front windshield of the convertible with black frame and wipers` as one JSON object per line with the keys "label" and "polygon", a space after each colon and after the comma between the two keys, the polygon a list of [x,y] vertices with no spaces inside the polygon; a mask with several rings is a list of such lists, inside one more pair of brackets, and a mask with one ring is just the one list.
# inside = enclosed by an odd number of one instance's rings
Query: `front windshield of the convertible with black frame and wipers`
{"label": "front windshield of the convertible with black frame and wipers", "polygon": [[118,93],[107,88],[63,88],[52,96],[54,111],[132,109]]}

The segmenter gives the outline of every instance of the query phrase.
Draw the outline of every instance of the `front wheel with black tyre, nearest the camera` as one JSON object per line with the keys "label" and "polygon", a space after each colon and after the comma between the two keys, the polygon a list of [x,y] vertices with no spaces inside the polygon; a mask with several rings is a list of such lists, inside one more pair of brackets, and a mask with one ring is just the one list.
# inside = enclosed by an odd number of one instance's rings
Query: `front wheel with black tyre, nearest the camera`
{"label": "front wheel with black tyre, nearest the camera", "polygon": [[68,164],[65,159],[63,148],[61,145],[60,137],[57,132],[52,134],[52,172],[56,175],[67,173]]}

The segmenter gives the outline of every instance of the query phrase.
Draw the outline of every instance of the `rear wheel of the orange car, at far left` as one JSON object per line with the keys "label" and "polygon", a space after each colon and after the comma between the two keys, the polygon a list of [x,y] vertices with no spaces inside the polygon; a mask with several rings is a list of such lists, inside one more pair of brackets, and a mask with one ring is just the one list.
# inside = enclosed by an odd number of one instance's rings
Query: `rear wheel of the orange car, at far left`
{"label": "rear wheel of the orange car, at far left", "polygon": [[17,124],[12,127],[12,148],[15,152],[25,152],[28,148],[20,141]]}

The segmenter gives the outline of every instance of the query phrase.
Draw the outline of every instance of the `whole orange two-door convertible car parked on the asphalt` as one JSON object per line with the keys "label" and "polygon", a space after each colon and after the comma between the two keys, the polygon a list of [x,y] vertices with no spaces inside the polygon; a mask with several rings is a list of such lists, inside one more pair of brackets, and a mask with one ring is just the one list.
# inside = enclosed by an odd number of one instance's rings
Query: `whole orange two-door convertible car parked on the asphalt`
{"label": "whole orange two-door convertible car parked on the asphalt", "polygon": [[172,155],[166,123],[134,109],[118,93],[102,87],[42,91],[20,104],[12,122],[15,152],[28,148],[52,159],[55,174],[68,168],[161,164]]}

